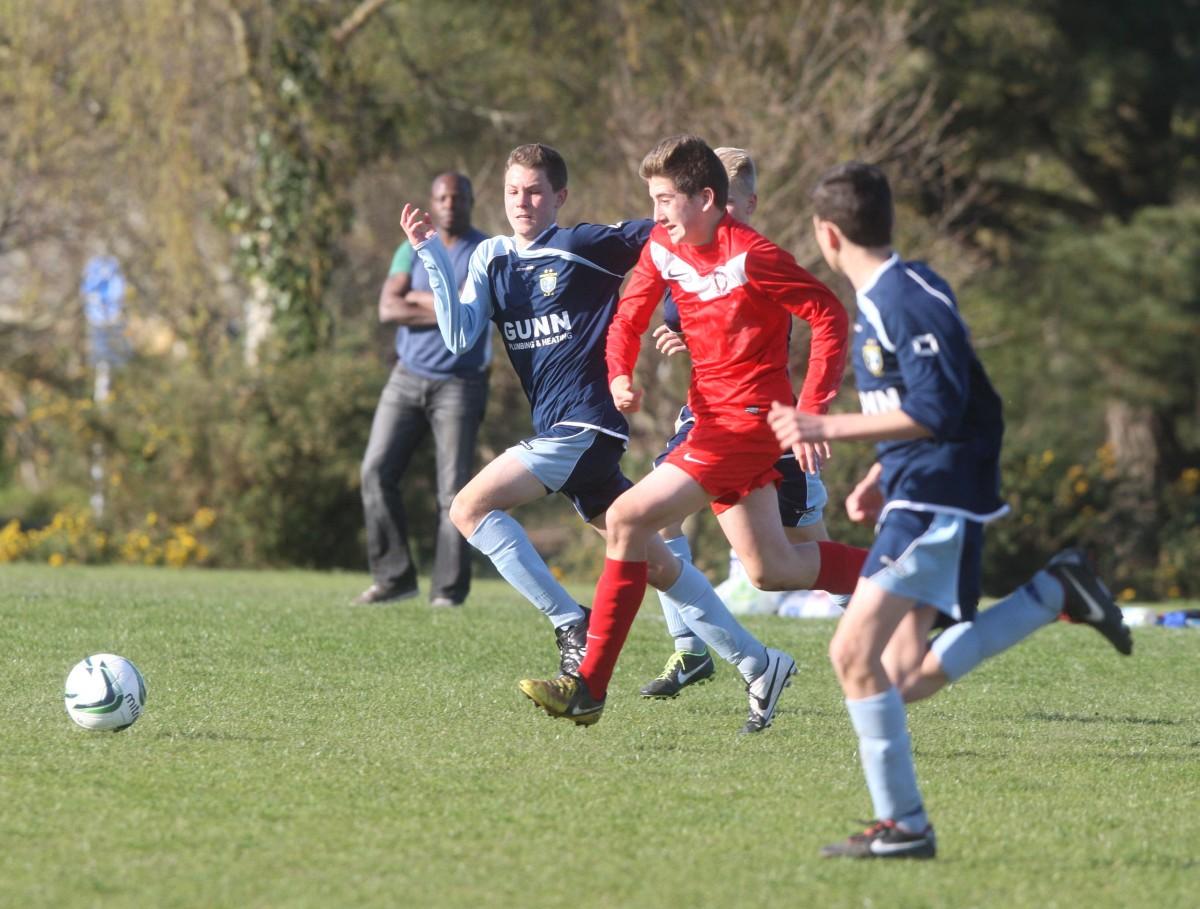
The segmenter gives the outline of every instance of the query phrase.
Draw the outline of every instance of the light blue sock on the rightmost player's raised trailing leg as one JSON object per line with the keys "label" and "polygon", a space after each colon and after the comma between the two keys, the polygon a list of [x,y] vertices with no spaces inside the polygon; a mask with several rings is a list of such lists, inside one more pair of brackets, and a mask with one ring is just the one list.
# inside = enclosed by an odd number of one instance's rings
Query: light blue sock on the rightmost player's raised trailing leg
{"label": "light blue sock on the rightmost player's raised trailing leg", "polygon": [[1049,625],[1062,609],[1062,586],[1044,571],[1014,590],[974,621],[959,622],[943,631],[932,651],[942,672],[958,681],[989,657],[1008,650],[1043,625]]}

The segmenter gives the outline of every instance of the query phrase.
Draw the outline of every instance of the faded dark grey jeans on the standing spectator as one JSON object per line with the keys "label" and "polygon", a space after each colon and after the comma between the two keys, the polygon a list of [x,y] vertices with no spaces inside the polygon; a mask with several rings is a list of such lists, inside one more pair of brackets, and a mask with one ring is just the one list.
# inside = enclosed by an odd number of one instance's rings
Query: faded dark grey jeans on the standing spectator
{"label": "faded dark grey jeans on the standing spectator", "polygon": [[425,379],[396,363],[379,396],[367,452],[362,457],[362,511],[367,561],[380,586],[416,588],[408,546],[401,480],[426,433],[433,431],[437,458],[438,528],[430,597],[467,598],[470,547],[450,523],[450,502],[475,464],[475,439],[487,405],[487,373]]}

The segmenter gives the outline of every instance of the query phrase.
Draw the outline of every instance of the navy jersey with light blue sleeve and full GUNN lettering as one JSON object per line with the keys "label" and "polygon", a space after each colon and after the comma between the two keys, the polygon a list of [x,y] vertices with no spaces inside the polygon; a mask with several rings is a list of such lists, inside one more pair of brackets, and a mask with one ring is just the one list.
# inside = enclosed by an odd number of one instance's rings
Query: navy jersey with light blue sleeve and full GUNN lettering
{"label": "navy jersey with light blue sleeve and full GUNN lettering", "polygon": [[491,319],[529,398],[534,432],[568,425],[628,439],[608,390],[605,337],[625,272],[653,225],[553,224],[524,249],[511,236],[493,236],[472,254],[461,300],[442,279],[451,272],[437,245],[422,243],[443,341],[467,350]]}

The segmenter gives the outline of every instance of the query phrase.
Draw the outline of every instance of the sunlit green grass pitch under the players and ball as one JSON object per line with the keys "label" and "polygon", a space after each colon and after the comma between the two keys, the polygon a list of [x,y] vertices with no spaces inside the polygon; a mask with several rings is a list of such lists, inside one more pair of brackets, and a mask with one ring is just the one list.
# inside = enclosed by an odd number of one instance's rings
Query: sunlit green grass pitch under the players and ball
{"label": "sunlit green grass pitch under the players and ball", "polygon": [[[432,610],[346,607],[350,574],[0,572],[0,905],[1200,904],[1194,631],[1122,658],[1055,625],[916,705],[940,857],[834,862],[870,802],[829,621],[751,620],[800,673],[744,739],[730,667],[637,697],[670,646],[648,601],[582,729],[517,692],[553,638],[499,582]],[[62,709],[97,651],[149,686],[120,734]]]}

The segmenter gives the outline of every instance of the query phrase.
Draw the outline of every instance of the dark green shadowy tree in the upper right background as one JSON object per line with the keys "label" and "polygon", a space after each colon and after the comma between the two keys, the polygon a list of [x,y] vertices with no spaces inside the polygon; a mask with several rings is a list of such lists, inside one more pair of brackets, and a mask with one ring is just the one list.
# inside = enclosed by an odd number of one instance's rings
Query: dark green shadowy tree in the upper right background
{"label": "dark green shadowy tree in the upper right background", "polygon": [[997,356],[1025,363],[1007,371],[1018,396],[1068,417],[1022,414],[1022,432],[1106,437],[1129,522],[1116,548],[1151,564],[1166,484],[1200,441],[1180,419],[1200,403],[1180,348],[1195,332],[1200,2],[946,2],[918,41],[979,175],[964,219],[1004,267]]}

